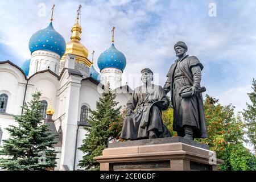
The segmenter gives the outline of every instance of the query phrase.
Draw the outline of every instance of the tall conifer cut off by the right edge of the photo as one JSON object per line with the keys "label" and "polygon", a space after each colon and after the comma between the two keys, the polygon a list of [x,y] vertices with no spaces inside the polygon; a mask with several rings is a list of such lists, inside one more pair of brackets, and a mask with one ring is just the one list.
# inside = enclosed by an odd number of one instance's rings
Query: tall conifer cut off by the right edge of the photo
{"label": "tall conifer cut off by the right edge of the photo", "polygon": [[[256,80],[253,78],[253,86],[251,86],[253,92],[247,93],[252,105],[246,103],[247,109],[243,110],[243,118],[246,122],[247,137],[249,143],[256,150]],[[256,151],[255,151],[256,152]]]}

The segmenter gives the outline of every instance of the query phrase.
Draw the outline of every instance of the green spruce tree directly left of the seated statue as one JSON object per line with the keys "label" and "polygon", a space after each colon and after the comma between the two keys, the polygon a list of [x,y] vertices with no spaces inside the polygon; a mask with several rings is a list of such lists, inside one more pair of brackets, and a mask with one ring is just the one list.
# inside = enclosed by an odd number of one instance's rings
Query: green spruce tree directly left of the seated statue
{"label": "green spruce tree directly left of the seated statue", "polygon": [[[109,84],[108,84],[109,85]],[[115,94],[109,86],[102,93],[100,101],[96,103],[96,110],[90,110],[88,123],[91,127],[85,127],[88,133],[79,147],[84,153],[79,166],[86,170],[99,170],[100,164],[93,160],[95,156],[102,155],[102,151],[108,146],[110,140],[118,139],[122,129],[121,107],[114,101]]]}

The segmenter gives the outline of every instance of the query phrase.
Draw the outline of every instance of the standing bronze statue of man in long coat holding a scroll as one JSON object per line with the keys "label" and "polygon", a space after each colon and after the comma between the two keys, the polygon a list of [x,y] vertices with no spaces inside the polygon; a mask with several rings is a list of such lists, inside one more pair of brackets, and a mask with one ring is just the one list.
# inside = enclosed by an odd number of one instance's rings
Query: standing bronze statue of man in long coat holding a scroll
{"label": "standing bronze statue of man in long coat holding a scroll", "polygon": [[195,56],[188,56],[184,42],[174,46],[177,60],[171,65],[164,92],[171,92],[174,108],[174,131],[187,139],[207,138],[204,104],[201,92],[201,71],[204,68]]}

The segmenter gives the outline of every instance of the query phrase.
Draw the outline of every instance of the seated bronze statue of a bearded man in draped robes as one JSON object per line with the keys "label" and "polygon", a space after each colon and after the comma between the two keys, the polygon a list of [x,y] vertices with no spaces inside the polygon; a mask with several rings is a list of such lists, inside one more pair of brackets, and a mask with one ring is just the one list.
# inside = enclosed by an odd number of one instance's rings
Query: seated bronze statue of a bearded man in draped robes
{"label": "seated bronze statue of a bearded man in draped robes", "polygon": [[162,121],[162,110],[168,108],[170,101],[161,86],[152,84],[153,72],[149,68],[141,73],[143,85],[135,88],[127,102],[120,137],[129,140],[171,137]]}

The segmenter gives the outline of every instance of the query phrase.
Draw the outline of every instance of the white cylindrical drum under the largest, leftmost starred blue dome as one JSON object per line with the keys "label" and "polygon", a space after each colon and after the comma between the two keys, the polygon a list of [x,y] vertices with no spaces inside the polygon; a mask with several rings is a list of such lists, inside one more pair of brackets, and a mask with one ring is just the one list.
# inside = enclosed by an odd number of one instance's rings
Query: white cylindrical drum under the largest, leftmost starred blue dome
{"label": "white cylindrical drum under the largest, leftmost starred blue dome", "polygon": [[[50,69],[52,72],[59,73],[60,55],[51,51],[34,51],[31,54],[30,77],[36,72]],[[49,68],[48,68],[49,67]]]}

